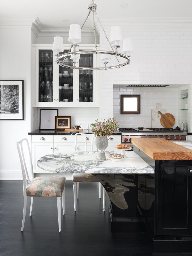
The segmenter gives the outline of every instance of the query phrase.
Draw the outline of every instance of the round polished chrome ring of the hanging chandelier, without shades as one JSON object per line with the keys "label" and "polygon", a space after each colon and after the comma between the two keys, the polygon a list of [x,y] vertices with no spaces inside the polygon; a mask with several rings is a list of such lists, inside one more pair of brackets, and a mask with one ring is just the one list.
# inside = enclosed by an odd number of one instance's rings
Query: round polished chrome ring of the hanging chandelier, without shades
{"label": "round polished chrome ring of the hanging chandelier, without shades", "polygon": [[[108,62],[103,62],[104,63],[104,66],[103,67],[93,67],[93,68],[88,68],[88,67],[78,67],[76,66],[76,61],[72,62],[73,63],[73,66],[70,66],[70,65],[67,65],[65,64],[65,59],[67,57],[71,57],[71,55],[75,56],[76,54],[89,54],[89,53],[92,53],[92,54],[109,54],[109,55],[113,55],[115,57],[122,57],[124,58],[126,61],[124,63],[118,63],[117,65],[114,65],[114,66],[106,66],[106,64]],[[106,70],[106,69],[111,69],[111,68],[121,68],[121,67],[124,67],[126,65],[128,65],[130,63],[130,59],[129,57],[131,56],[128,56],[128,55],[125,55],[123,53],[119,53],[119,52],[112,52],[112,51],[103,51],[103,50],[83,50],[83,51],[74,51],[74,52],[66,52],[66,53],[63,53],[63,54],[56,54],[56,63],[58,65],[60,65],[61,67],[65,67],[65,68],[73,68],[73,69],[79,69],[79,70]]]}

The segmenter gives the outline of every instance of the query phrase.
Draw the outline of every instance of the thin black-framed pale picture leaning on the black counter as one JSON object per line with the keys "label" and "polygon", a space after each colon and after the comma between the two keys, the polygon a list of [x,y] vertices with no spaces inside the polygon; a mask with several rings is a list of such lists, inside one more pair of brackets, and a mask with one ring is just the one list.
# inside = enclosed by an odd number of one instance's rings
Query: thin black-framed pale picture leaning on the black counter
{"label": "thin black-framed pale picture leaning on the black counter", "polygon": [[40,109],[39,130],[54,130],[58,109]]}

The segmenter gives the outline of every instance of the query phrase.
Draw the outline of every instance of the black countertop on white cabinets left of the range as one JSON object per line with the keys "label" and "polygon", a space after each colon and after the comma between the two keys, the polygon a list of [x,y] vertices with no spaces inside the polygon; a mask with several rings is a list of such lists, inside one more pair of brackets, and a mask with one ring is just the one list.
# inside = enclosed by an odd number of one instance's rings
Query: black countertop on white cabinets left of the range
{"label": "black countertop on white cabinets left of the range", "polygon": [[[35,130],[33,132],[28,132],[28,135],[74,135],[79,132],[68,132],[60,130]],[[92,133],[92,130],[83,130],[81,133]],[[121,135],[121,132],[116,131],[113,135]]]}

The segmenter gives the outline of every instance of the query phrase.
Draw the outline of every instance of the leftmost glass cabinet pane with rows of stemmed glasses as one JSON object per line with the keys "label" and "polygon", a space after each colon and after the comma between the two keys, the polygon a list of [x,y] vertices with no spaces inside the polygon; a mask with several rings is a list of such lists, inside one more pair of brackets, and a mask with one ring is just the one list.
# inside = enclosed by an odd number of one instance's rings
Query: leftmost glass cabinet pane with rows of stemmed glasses
{"label": "leftmost glass cabinet pane with rows of stemmed glasses", "polygon": [[[38,101],[53,101],[53,52],[38,50]],[[44,103],[45,104],[45,103]]]}

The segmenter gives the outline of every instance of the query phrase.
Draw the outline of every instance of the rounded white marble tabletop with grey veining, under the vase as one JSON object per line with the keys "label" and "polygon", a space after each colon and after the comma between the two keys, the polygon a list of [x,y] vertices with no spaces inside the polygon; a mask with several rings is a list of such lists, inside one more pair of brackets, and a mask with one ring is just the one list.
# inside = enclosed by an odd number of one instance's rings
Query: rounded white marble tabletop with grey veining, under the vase
{"label": "rounded white marble tabletop with grey veining, under the vase", "polygon": [[126,152],[128,158],[120,162],[111,161],[106,152],[106,160],[98,160],[99,152],[70,152],[49,154],[37,161],[39,168],[57,173],[154,173],[154,168],[146,163],[136,152]]}

